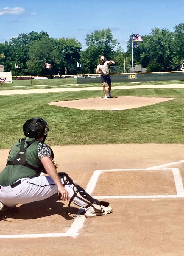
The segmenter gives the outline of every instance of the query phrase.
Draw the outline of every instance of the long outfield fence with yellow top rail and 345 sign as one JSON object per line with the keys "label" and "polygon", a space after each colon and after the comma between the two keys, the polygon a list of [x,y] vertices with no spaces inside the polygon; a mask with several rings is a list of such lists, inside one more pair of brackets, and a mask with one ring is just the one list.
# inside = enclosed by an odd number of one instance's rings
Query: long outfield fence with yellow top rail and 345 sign
{"label": "long outfield fence with yellow top rail and 345 sign", "polygon": [[[38,77],[40,79],[38,79]],[[72,84],[94,84],[101,83],[101,75],[84,74],[84,75],[67,75],[64,78],[60,76],[38,76],[31,78],[30,76],[10,77],[12,85],[37,86],[37,85],[72,85]],[[184,80],[184,72],[153,72],[153,73],[111,73],[112,83],[129,83],[129,82],[154,82],[154,81],[182,81]],[[8,86],[9,82],[1,77],[0,86]]]}

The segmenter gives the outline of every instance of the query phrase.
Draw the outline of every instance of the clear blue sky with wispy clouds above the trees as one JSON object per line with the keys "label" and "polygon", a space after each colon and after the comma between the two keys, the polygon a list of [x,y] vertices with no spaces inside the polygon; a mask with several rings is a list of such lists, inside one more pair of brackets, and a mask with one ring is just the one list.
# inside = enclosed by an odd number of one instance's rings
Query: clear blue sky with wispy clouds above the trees
{"label": "clear blue sky with wispy clouds above the trees", "polygon": [[0,43],[43,30],[52,38],[76,38],[84,50],[87,33],[109,27],[126,51],[132,31],[140,35],[148,35],[155,27],[173,31],[181,22],[182,0],[7,0],[0,5]]}

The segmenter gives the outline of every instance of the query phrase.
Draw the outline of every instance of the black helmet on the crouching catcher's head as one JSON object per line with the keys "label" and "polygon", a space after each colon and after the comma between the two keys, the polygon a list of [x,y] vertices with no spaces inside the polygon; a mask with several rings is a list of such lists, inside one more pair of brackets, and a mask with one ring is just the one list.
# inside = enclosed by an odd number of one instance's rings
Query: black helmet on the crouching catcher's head
{"label": "black helmet on the crouching catcher's head", "polygon": [[43,137],[44,142],[49,132],[49,126],[44,119],[33,117],[23,125],[23,132],[28,138],[38,139]]}

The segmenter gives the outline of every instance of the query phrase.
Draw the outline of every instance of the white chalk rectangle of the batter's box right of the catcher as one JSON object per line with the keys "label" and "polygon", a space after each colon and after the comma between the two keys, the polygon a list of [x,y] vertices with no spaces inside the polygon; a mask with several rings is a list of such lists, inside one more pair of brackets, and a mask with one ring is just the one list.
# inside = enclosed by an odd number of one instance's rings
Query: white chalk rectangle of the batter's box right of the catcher
{"label": "white chalk rectangle of the batter's box right of the catcher", "polygon": [[[175,182],[175,188],[176,188],[176,194],[174,195],[119,195],[119,196],[94,196],[96,199],[142,199],[142,198],[183,198],[184,197],[184,188],[183,188],[183,182],[182,178],[179,172],[178,168],[160,168],[156,169],[156,171],[165,171],[165,170],[171,170],[174,182]],[[87,185],[86,192],[88,194],[91,194],[96,186],[97,180],[99,176],[103,172],[113,172],[113,171],[155,171],[154,169],[110,169],[110,170],[96,170],[93,172],[93,175],[91,176],[91,179]]]}

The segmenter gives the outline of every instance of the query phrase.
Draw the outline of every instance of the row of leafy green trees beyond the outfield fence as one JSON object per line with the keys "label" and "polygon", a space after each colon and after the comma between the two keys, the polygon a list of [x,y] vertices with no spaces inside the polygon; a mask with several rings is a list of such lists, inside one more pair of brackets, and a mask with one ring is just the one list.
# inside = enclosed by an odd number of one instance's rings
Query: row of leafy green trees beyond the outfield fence
{"label": "row of leafy green trees beyond the outfield fence", "polygon": [[[168,29],[154,28],[148,35],[142,35],[143,42],[139,48],[133,49],[134,65],[142,65],[147,72],[179,70],[184,60],[184,23],[175,25],[173,32]],[[99,57],[104,55],[107,60],[114,60],[115,66],[132,65],[132,35],[127,41],[127,51],[124,53],[117,39],[113,37],[110,28],[94,30],[86,35],[86,49],[74,38],[55,39],[47,32],[30,32],[19,34],[10,42],[0,43],[0,65],[5,71],[12,71],[15,76],[15,63],[18,76],[44,75],[45,62],[51,64],[48,75],[76,74],[77,62],[83,68],[80,74],[94,74],[99,64]]]}

